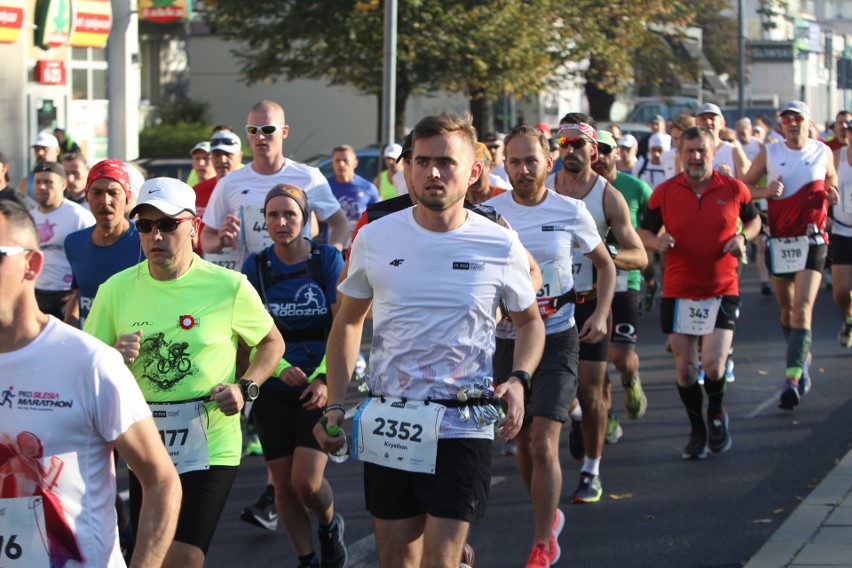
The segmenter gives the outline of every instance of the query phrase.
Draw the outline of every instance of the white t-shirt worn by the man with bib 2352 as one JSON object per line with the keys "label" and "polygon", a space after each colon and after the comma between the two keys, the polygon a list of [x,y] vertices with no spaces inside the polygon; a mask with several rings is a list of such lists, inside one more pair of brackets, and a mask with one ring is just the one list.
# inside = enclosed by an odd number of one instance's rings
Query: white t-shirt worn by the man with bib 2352
{"label": "white t-shirt worn by the man with bib 2352", "polygon": [[[497,306],[502,298],[516,312],[535,302],[529,268],[514,231],[469,211],[446,233],[418,225],[414,207],[362,227],[338,289],[373,299],[370,392],[455,400],[492,377]],[[448,408],[440,437],[492,439],[493,428]]]}

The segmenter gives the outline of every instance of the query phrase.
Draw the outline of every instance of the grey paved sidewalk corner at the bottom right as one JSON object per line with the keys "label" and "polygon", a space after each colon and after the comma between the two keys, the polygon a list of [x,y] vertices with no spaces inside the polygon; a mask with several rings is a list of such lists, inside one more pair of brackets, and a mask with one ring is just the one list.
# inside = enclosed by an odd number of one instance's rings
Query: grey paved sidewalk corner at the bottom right
{"label": "grey paved sidewalk corner at the bottom right", "polygon": [[852,451],[796,507],[745,568],[852,566]]}

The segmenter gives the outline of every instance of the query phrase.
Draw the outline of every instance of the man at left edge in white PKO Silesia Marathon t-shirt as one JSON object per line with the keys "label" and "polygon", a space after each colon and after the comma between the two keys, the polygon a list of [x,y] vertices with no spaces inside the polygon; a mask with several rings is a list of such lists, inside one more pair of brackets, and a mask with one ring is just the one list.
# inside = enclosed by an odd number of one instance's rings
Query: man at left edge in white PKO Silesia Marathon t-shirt
{"label": "man at left edge in white PKO Silesia Marathon t-shirt", "polygon": [[43,265],[32,218],[0,200],[0,563],[124,566],[114,447],[143,495],[135,565],[160,566],[177,521],[177,474],[121,357],[39,310]]}

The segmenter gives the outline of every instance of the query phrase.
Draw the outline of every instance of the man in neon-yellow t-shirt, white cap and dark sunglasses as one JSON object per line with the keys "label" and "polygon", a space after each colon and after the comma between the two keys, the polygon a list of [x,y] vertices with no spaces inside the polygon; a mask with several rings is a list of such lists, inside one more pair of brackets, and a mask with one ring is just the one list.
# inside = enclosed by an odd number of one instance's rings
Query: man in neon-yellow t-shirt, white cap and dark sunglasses
{"label": "man in neon-yellow t-shirt, white cap and dark sunglasses", "polygon": [[[202,566],[240,462],[239,412],[257,397],[284,342],[245,276],[193,253],[199,220],[191,187],[145,182],[136,215],[147,260],[101,285],[84,330],[124,356],[180,474],[183,500],[166,564]],[[237,381],[240,339],[257,355]],[[134,528],[139,510],[131,471]]]}

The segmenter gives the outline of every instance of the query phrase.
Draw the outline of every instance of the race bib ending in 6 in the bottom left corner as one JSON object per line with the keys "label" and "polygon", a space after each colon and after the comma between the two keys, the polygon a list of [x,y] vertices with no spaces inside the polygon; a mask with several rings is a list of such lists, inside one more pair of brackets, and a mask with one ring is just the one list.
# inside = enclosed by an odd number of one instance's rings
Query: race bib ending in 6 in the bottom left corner
{"label": "race bib ending in 6 in the bottom left corner", "polygon": [[0,566],[50,568],[43,497],[0,499]]}

